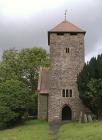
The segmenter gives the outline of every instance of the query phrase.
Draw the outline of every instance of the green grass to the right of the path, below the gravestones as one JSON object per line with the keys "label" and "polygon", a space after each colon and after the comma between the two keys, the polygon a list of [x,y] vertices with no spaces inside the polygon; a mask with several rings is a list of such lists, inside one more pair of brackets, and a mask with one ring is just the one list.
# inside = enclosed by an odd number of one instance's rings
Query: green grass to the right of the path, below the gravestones
{"label": "green grass to the right of the path, below the gravestones", "polygon": [[102,122],[64,124],[59,137],[59,140],[102,140]]}

